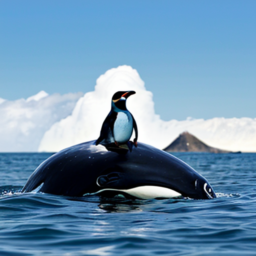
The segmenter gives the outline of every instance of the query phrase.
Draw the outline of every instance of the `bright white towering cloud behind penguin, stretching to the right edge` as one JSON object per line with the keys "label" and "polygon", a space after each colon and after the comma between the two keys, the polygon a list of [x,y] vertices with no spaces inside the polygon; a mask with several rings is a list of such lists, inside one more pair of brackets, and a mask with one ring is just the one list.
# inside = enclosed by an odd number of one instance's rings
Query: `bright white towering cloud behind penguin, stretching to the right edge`
{"label": "bright white towering cloud behind penguin, stretching to the right edge", "polygon": [[111,68],[100,75],[94,91],[79,98],[72,113],[59,118],[61,120],[44,133],[38,150],[58,151],[96,139],[110,110],[111,97],[118,90],[136,91],[127,99],[127,108],[137,122],[138,141],[164,148],[186,130],[210,146],[233,151],[256,151],[256,118],[163,121],[154,112],[152,93],[146,90],[138,72],[127,65]]}

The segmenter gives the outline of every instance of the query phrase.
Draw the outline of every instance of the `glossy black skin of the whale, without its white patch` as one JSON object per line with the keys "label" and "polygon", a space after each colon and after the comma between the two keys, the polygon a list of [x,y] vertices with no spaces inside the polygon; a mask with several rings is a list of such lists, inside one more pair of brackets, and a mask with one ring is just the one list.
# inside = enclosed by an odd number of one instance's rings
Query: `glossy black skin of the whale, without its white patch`
{"label": "glossy black skin of the whale, without its white patch", "polygon": [[[107,150],[95,140],[63,149],[43,161],[22,192],[40,186],[45,193],[82,196],[104,189],[160,186],[184,197],[216,197],[208,181],[175,156],[144,143],[132,151]],[[118,191],[115,191],[118,193]],[[125,194],[125,193],[124,193]]]}

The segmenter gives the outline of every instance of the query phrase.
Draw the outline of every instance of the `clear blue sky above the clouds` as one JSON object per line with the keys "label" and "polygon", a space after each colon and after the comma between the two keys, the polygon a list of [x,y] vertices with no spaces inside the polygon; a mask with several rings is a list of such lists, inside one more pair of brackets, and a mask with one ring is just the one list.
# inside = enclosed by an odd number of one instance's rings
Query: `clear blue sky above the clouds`
{"label": "clear blue sky above the clouds", "polygon": [[256,0],[0,0],[0,97],[137,69],[164,120],[256,117]]}

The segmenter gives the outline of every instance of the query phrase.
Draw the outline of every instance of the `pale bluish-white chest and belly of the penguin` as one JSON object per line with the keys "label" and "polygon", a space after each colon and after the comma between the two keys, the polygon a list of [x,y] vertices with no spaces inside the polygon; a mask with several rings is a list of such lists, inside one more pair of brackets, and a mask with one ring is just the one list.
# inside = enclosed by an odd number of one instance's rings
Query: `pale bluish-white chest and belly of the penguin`
{"label": "pale bluish-white chest and belly of the penguin", "polygon": [[128,141],[132,134],[132,128],[133,122],[130,114],[118,112],[113,127],[114,140],[119,143]]}

